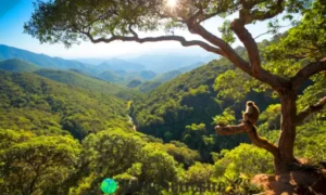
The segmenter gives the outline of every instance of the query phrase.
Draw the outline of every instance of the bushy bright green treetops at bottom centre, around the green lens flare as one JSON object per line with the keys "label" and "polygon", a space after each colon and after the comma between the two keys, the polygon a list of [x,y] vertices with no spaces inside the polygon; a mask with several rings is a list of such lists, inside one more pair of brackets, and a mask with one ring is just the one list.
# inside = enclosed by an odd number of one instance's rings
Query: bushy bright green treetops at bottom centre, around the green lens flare
{"label": "bushy bright green treetops at bottom centre, around the green lens flare", "polygon": [[[87,169],[72,192],[95,192],[104,178],[115,178],[121,184],[131,180],[143,184],[154,183],[158,188],[151,191],[160,191],[168,185],[168,181],[177,181],[180,170],[164,147],[158,143],[147,143],[136,133],[120,129],[90,134],[83,141],[80,156]],[[139,186],[136,191],[146,193],[147,188]]]}

